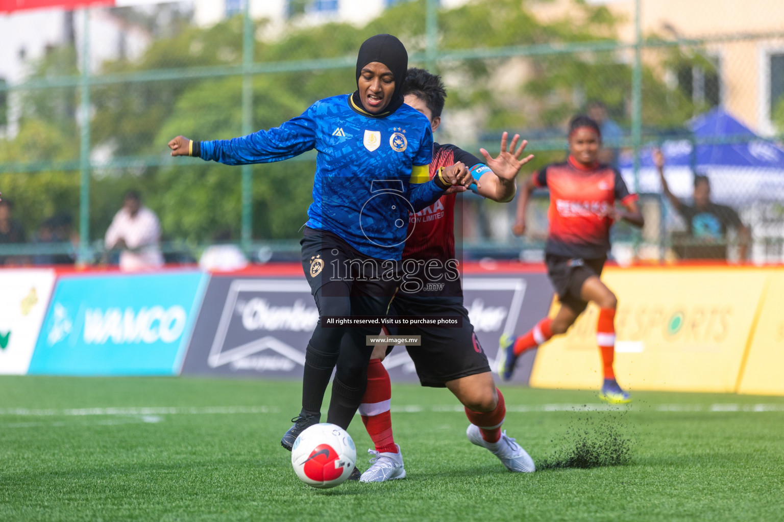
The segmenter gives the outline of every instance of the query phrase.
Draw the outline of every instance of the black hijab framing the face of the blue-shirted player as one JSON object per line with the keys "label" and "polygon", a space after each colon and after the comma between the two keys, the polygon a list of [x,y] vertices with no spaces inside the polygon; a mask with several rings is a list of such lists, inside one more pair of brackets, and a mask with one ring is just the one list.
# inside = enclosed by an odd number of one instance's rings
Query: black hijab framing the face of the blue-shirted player
{"label": "black hijab framing the face of the blue-shirted player", "polygon": [[354,91],[352,99],[354,105],[358,106],[361,110],[365,110],[359,98],[359,76],[362,73],[362,68],[371,62],[379,62],[392,71],[394,76],[394,92],[392,93],[392,100],[383,112],[378,114],[371,114],[375,117],[388,116],[394,113],[401,105],[403,105],[403,82],[405,82],[405,71],[408,70],[408,52],[405,50],[403,43],[392,36],[391,34],[376,34],[365,40],[359,48],[359,55],[357,56],[357,90]]}

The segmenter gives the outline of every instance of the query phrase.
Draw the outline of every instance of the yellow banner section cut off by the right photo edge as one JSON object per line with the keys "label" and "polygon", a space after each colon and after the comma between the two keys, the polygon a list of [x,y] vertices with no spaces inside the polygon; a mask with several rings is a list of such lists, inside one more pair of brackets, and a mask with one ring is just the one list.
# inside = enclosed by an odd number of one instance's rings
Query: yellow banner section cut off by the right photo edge
{"label": "yellow banner section cut off by the right photo edge", "polygon": [[737,391],[784,395],[784,268],[771,274]]}

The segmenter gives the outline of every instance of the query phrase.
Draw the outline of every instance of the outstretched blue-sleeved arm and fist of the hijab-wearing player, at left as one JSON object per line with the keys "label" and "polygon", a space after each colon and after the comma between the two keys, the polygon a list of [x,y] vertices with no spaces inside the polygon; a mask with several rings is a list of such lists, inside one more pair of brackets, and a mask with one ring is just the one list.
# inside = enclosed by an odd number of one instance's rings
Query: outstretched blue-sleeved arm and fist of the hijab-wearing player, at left
{"label": "outstretched blue-sleeved arm and fist of the hijab-wearing player, at left", "polygon": [[194,156],[227,165],[288,160],[316,146],[314,106],[269,131],[233,139],[198,142],[177,136],[169,142],[172,156]]}

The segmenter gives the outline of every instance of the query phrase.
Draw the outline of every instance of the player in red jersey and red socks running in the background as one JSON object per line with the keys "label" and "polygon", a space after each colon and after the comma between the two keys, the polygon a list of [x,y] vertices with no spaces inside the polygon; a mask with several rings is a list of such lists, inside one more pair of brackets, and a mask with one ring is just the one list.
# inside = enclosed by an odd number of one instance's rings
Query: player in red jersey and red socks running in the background
{"label": "player in red jersey and red socks running in the background", "polygon": [[[566,332],[586,309],[589,301],[599,307],[597,344],[604,367],[599,397],[611,403],[631,400],[619,387],[612,369],[615,354],[615,308],[618,299],[599,276],[610,250],[610,227],[623,219],[642,227],[637,194],[629,193],[619,171],[597,161],[601,146],[598,124],[587,116],[575,116],[569,124],[569,157],[535,172],[521,191],[514,233],[525,232],[525,209],[536,188],[550,189],[550,233],[545,259],[561,308],[554,319],[544,318],[520,337],[502,336],[503,357],[499,374],[509,380],[517,358],[550,337]],[[625,210],[615,208],[619,200]]]}

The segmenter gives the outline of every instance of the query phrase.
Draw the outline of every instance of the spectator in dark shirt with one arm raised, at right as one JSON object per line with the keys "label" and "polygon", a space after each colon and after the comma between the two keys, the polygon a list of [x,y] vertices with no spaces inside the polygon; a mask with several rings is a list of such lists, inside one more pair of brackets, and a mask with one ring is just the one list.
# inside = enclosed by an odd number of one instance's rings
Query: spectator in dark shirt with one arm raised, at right
{"label": "spectator in dark shirt with one arm raised, at right", "polygon": [[[746,259],[749,246],[749,229],[743,225],[731,207],[718,205],[710,200],[710,180],[704,175],[694,177],[692,205],[679,200],[670,192],[664,177],[664,155],[655,150],[653,161],[659,170],[662,192],[678,214],[686,221],[685,238],[673,240],[678,257],[689,259],[727,259],[728,232],[735,229],[740,239],[739,257]],[[677,239],[677,238],[673,238]]]}

